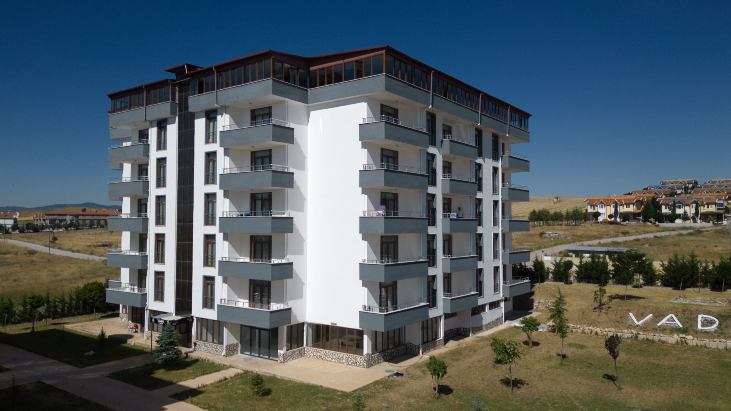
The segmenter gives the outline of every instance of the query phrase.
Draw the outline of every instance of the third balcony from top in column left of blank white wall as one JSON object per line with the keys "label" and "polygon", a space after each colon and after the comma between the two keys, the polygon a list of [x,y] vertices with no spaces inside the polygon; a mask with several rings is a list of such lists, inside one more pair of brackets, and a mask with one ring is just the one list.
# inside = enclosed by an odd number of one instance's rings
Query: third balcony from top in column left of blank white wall
{"label": "third balcony from top in column left of blank white wall", "polygon": [[219,233],[286,234],[294,229],[289,211],[224,211],[219,218]]}

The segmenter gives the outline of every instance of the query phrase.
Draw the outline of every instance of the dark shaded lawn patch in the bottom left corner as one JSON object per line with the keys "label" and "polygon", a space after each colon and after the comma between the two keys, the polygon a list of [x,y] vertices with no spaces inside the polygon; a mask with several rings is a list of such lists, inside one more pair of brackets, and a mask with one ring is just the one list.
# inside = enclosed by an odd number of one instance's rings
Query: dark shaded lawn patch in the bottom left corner
{"label": "dark shaded lawn patch in the bottom left corner", "polygon": [[[88,401],[45,382],[30,382],[0,390],[0,410],[22,411],[104,411],[107,407]],[[13,398],[15,397],[15,399]]]}

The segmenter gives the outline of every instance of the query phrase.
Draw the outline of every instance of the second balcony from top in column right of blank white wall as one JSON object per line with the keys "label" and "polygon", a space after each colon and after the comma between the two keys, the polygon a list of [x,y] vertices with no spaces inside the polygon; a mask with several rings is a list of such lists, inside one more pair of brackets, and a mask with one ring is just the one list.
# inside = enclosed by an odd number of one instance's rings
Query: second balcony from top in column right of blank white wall
{"label": "second balcony from top in column right of blank white wall", "polygon": [[360,188],[425,190],[429,176],[422,168],[386,163],[366,164],[360,170]]}

